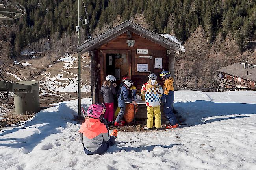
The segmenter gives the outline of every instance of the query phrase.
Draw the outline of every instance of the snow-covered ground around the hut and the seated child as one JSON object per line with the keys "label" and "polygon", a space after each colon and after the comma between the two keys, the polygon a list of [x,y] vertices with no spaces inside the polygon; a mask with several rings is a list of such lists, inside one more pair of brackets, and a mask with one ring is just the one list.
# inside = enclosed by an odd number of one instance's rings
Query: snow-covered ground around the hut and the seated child
{"label": "snow-covered ground around the hut and the seated child", "polygon": [[0,131],[0,169],[256,169],[255,91],[177,91],[174,107],[179,128],[119,132],[108,152],[87,156],[77,101],[58,103]]}

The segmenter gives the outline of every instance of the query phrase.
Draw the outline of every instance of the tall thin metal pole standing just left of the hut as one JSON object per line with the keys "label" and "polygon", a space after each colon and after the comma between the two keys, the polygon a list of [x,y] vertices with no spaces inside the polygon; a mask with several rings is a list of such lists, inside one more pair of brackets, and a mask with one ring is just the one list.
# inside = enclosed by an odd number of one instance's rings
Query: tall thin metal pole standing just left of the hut
{"label": "tall thin metal pole standing just left of the hut", "polygon": [[[81,41],[80,31],[81,1],[78,0],[78,45]],[[78,52],[78,118],[81,118],[81,51]]]}

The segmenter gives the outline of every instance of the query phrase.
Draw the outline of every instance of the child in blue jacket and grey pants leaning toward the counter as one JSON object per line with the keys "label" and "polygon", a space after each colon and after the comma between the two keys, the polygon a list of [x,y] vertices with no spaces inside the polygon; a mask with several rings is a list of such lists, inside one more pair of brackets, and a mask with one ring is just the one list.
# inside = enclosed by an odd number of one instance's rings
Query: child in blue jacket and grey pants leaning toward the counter
{"label": "child in blue jacket and grey pants leaning toward the counter", "polygon": [[129,98],[129,87],[132,85],[132,80],[126,79],[124,81],[124,85],[121,88],[120,95],[118,97],[118,107],[120,107],[120,112],[117,115],[117,118],[115,119],[115,126],[124,126],[125,121],[122,120],[122,117],[124,116],[125,112],[125,102],[136,104],[135,101],[133,101],[131,98]]}

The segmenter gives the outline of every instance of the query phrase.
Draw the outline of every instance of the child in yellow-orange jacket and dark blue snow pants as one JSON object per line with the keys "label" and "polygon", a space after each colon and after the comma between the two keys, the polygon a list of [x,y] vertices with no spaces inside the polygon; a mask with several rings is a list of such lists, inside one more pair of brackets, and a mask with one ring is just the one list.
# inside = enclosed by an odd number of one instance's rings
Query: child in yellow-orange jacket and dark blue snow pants
{"label": "child in yellow-orange jacket and dark blue snow pants", "polygon": [[166,128],[177,128],[178,121],[173,113],[173,101],[174,101],[174,87],[173,87],[173,78],[169,71],[162,71],[160,77],[164,81],[163,85],[163,96],[161,100],[161,105],[163,105],[163,112],[165,113],[166,118],[169,120],[169,125]]}

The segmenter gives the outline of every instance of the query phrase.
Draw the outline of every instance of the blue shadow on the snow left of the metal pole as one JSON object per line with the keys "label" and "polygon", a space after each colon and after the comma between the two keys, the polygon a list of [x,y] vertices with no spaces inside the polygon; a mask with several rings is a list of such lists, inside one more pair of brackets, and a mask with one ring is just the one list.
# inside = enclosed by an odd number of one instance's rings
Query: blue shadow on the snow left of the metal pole
{"label": "blue shadow on the snow left of the metal pole", "polygon": [[[9,143],[0,143],[0,146],[24,148],[24,153],[30,153],[46,137],[51,134],[58,134],[61,132],[62,128],[66,128],[67,122],[77,123],[76,121],[72,121],[73,115],[76,115],[76,112],[67,107],[66,103],[59,105],[57,111],[47,112],[46,110],[42,110],[41,112],[38,112],[32,120],[19,123],[22,127],[17,127],[15,124],[13,127],[16,128],[2,130],[0,132],[0,141],[9,140]],[[60,119],[62,120],[60,121]],[[33,130],[33,128],[36,129]],[[32,129],[33,134],[27,137],[22,137],[22,130],[27,129]],[[20,136],[20,138],[3,138],[4,135],[9,135],[11,133],[18,133],[16,136]],[[24,131],[24,133],[31,132]],[[15,134],[12,136],[15,136]]]}

